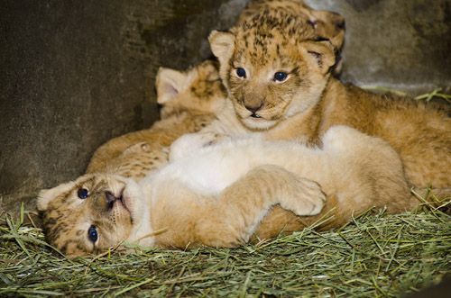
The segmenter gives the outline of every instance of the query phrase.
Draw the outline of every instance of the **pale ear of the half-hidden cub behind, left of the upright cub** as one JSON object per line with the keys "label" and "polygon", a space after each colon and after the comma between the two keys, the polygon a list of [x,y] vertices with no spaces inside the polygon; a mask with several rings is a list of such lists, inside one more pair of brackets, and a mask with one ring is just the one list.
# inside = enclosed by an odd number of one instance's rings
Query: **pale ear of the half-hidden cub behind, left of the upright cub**
{"label": "pale ear of the half-hidden cub behind, left of the upright cub", "polygon": [[181,93],[189,84],[189,76],[175,69],[160,68],[156,77],[157,102],[165,104]]}

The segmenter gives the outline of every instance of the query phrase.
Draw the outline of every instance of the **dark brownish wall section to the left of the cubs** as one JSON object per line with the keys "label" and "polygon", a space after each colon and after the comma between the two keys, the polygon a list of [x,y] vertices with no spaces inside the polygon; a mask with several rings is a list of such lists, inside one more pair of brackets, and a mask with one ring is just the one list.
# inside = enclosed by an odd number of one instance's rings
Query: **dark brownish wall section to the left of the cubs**
{"label": "dark brownish wall section to the left of the cubs", "polygon": [[206,58],[245,1],[4,1],[0,211],[83,173],[94,150],[158,117],[154,75]]}

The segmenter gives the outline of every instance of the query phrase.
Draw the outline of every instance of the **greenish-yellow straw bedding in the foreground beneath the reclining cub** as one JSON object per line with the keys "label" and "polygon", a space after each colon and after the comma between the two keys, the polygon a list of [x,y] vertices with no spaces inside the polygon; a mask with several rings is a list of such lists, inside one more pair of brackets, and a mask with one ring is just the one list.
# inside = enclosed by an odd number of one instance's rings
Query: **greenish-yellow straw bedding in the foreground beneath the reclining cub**
{"label": "greenish-yellow straw bedding in the foreground beneath the reclining cub", "polygon": [[1,217],[0,296],[400,296],[451,273],[450,216],[368,212],[236,249],[115,250],[67,259],[41,230]]}

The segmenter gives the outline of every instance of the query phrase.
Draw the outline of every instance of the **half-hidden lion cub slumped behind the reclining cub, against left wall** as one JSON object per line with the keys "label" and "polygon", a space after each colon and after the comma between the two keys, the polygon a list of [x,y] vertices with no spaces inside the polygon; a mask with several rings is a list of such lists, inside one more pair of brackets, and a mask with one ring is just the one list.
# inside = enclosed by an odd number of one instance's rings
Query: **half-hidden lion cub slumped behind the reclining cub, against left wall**
{"label": "half-hidden lion cub slumped behind the reclining cub, against left wall", "polygon": [[204,61],[186,72],[160,68],[156,77],[161,121],[100,146],[87,173],[108,173],[142,179],[168,161],[167,147],[184,133],[199,131],[216,119],[226,100],[216,63]]}

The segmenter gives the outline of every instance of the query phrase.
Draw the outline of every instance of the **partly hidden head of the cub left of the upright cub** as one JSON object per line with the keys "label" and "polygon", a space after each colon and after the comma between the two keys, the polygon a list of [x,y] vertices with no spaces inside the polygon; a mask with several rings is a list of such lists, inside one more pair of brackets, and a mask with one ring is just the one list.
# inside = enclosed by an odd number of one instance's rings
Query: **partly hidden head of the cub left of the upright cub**
{"label": "partly hidden head of the cub left of the upright cub", "polygon": [[156,77],[157,102],[161,104],[161,118],[173,113],[217,113],[226,100],[218,66],[204,61],[197,67],[180,72],[160,68]]}

